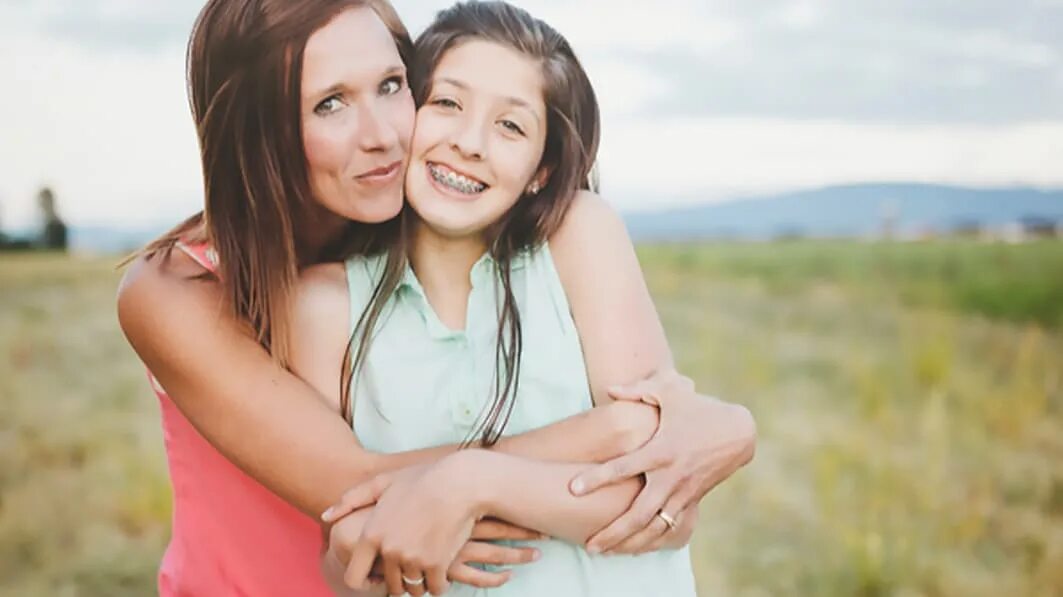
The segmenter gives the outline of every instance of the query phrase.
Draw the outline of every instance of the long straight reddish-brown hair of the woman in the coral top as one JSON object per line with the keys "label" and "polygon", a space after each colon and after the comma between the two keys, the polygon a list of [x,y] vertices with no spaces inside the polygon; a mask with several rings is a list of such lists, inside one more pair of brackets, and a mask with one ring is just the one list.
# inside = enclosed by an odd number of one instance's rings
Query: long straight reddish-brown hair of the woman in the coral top
{"label": "long straight reddish-brown hair of the woman in the coral top", "polygon": [[342,259],[366,227],[352,223],[323,254],[301,250],[299,235],[308,233],[315,202],[303,149],[303,53],[315,31],[361,6],[379,16],[409,64],[412,42],[387,0],[207,2],[186,56],[204,209],[141,252],[166,258],[178,241],[209,243],[233,314],[285,365],[288,310],[300,268]]}

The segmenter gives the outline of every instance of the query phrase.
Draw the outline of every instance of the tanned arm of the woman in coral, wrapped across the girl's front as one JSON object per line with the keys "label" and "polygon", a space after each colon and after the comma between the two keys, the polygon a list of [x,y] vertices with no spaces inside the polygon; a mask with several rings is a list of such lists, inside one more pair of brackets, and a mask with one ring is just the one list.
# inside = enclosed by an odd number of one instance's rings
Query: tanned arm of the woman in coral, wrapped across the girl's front
{"label": "tanned arm of the woman in coral, wrapped across the girl's front", "polygon": [[[226,312],[217,284],[195,279],[200,274],[198,265],[176,252],[166,260],[137,260],[119,289],[119,322],[197,430],[282,498],[317,516],[373,475],[453,451],[453,446],[396,455],[362,449],[327,399],[279,366]],[[331,325],[345,335],[342,322]],[[338,370],[333,379],[322,388],[338,395]],[[538,438],[508,439],[501,447],[550,460],[601,461],[637,447],[656,428],[655,409],[594,414],[543,429]],[[572,441],[580,445],[567,443]]]}

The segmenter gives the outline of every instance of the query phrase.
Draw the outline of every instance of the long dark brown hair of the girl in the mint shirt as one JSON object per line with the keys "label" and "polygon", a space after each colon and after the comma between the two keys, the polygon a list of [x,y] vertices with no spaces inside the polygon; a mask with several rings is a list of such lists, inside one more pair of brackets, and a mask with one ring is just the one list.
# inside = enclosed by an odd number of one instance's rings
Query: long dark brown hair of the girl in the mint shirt
{"label": "long dark brown hair of the girl in the mint shirt", "polygon": [[[550,173],[545,185],[538,193],[522,197],[486,232],[488,252],[496,265],[502,291],[494,399],[482,413],[467,445],[477,436],[479,445],[491,445],[502,436],[509,419],[520,377],[522,334],[520,312],[510,284],[512,260],[522,252],[537,249],[557,231],[578,190],[596,190],[592,171],[601,122],[590,79],[568,40],[527,12],[499,1],[459,2],[440,12],[418,37],[410,75],[418,106],[424,105],[427,100],[435,69],[443,55],[474,39],[511,48],[536,61],[542,69],[543,100],[547,113],[546,141],[539,165],[540,169]],[[414,217],[408,207],[404,209],[404,228],[408,228]],[[348,346],[341,408],[349,419],[353,417],[350,412],[351,386],[355,372],[365,363],[372,330],[406,267],[404,243],[407,236],[401,234],[392,243],[384,275]]]}

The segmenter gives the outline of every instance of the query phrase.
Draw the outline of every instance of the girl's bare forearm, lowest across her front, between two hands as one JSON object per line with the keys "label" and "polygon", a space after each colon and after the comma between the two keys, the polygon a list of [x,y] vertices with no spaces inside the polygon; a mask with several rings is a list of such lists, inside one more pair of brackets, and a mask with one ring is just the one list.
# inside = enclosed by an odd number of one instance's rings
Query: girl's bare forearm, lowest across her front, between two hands
{"label": "girl's bare forearm, lowest across her front, between two hands", "polygon": [[480,515],[576,544],[623,514],[642,489],[642,481],[634,478],[575,497],[569,481],[586,465],[486,450],[468,450],[453,463],[456,482],[473,484],[472,499]]}

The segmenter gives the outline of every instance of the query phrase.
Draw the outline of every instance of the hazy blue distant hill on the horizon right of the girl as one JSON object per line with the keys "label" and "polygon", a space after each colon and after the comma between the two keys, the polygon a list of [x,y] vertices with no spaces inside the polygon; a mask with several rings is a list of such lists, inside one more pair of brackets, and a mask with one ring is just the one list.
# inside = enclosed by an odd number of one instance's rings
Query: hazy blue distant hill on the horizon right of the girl
{"label": "hazy blue distant hill on the horizon right of the girl", "polygon": [[1024,218],[1063,221],[1063,190],[968,189],[863,184],[764,195],[656,212],[627,214],[637,240],[855,237],[890,218],[904,233],[997,227]]}

